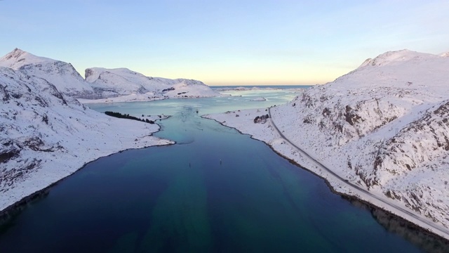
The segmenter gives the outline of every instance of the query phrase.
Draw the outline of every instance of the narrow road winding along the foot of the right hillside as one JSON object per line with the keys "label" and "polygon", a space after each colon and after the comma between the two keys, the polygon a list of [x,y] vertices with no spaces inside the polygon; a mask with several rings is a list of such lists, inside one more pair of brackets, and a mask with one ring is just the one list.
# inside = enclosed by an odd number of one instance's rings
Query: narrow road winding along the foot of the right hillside
{"label": "narrow road winding along the foot of the right hillside", "polygon": [[350,181],[347,181],[346,179],[342,178],[341,176],[336,174],[334,171],[332,171],[331,169],[329,169],[325,165],[321,164],[321,162],[316,160],[314,157],[311,157],[311,155],[309,155],[307,152],[302,150],[302,148],[300,148],[297,145],[295,145],[294,143],[292,143],[290,140],[288,140],[288,138],[286,138],[286,136],[284,136],[282,134],[281,131],[279,131],[278,127],[274,123],[274,119],[272,117],[271,109],[272,108],[268,108],[268,114],[269,114],[270,122],[272,123],[272,126],[274,126],[274,129],[278,132],[278,134],[279,134],[279,136],[281,136],[281,138],[283,138],[287,143],[289,143],[294,148],[296,148],[302,155],[304,155],[304,157],[307,157],[309,160],[311,160],[312,162],[316,163],[316,165],[318,165],[321,169],[323,169],[324,171],[326,171],[329,174],[333,175],[335,177],[335,179],[340,180],[340,183],[343,183],[344,185],[349,186],[349,188],[351,190],[356,190],[359,193],[363,193],[363,194],[366,194],[366,195],[368,195],[370,197],[373,197],[376,200],[378,200],[379,202],[382,202],[382,204],[384,204],[387,207],[389,207],[389,209],[391,209],[391,210],[395,210],[397,212],[402,212],[404,214],[408,214],[408,216],[412,217],[413,219],[416,219],[417,221],[425,223],[427,226],[429,226],[429,228],[434,230],[434,233],[436,233],[435,231],[438,231],[439,232],[438,234],[441,234],[441,236],[443,236],[444,238],[449,239],[449,230],[448,229],[442,228],[442,227],[438,226],[436,223],[434,223],[432,221],[429,221],[427,219],[424,219],[423,217],[418,216],[417,214],[411,212],[408,209],[404,209],[403,207],[400,207],[400,206],[396,205],[395,203],[392,203],[392,202],[389,202],[387,200],[384,200],[384,199],[382,199],[382,197],[378,197],[377,195],[374,195],[373,193],[370,193],[368,190],[366,190],[364,188],[361,188],[360,186],[357,186],[356,184],[351,183]]}

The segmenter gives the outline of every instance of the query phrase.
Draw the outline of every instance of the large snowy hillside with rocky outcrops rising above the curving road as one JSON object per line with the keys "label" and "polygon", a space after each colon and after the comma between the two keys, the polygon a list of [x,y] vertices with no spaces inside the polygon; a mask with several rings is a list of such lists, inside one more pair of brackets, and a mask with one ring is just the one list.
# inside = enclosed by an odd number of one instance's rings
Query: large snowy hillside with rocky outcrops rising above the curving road
{"label": "large snowy hillside with rocky outcrops rising above the curving road", "polygon": [[[449,228],[447,56],[387,52],[271,112],[286,138],[342,178]],[[272,129],[210,117],[256,137]]]}

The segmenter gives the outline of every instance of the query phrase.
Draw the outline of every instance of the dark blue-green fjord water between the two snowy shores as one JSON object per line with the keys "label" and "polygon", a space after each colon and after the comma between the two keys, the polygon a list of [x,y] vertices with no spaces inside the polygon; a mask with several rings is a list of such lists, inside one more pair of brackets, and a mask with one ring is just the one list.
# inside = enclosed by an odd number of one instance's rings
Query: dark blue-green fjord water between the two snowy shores
{"label": "dark blue-green fjord water between the two snowy shores", "polygon": [[420,252],[264,143],[199,117],[203,100],[93,105],[165,104],[156,135],[177,144],[87,164],[0,227],[0,252]]}

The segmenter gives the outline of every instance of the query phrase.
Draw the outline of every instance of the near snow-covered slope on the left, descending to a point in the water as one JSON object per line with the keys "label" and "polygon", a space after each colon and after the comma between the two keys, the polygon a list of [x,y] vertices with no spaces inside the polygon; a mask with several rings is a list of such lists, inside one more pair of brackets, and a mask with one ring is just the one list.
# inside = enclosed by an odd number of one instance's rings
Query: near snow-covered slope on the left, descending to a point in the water
{"label": "near snow-covered slope on the left, descending to a point in the water", "polygon": [[0,104],[0,211],[98,157],[170,143],[152,136],[158,125],[90,110],[22,67],[0,67]]}

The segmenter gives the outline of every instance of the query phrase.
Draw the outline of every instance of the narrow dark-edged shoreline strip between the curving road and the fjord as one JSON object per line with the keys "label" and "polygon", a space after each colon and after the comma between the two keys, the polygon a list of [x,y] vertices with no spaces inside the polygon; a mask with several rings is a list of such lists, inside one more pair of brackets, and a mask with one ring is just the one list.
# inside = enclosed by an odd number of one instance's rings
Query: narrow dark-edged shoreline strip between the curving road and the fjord
{"label": "narrow dark-edged shoreline strip between the curving road and the fjord", "polygon": [[[263,114],[262,110],[264,110],[264,109],[265,108],[257,109],[257,110],[260,110],[260,112],[257,112],[257,113]],[[248,111],[251,111],[251,110],[248,110]],[[241,112],[244,112],[244,111],[242,110]],[[226,113],[221,113],[220,115],[225,115],[225,114]],[[401,214],[403,214],[403,215],[397,214],[397,211],[398,211],[397,209],[396,210],[391,210],[388,207],[380,205],[380,203],[375,203],[375,201],[371,202],[370,200],[366,200],[363,197],[361,197],[360,194],[358,194],[358,193],[356,193],[354,191],[351,191],[351,190],[346,190],[345,191],[344,188],[342,188],[341,186],[338,185],[338,183],[340,183],[340,182],[332,181],[331,179],[328,178],[329,175],[326,175],[326,173],[323,174],[323,171],[321,171],[321,170],[320,171],[315,171],[314,169],[310,169],[309,166],[304,166],[300,162],[297,162],[296,160],[294,160],[293,158],[290,158],[287,155],[284,155],[283,153],[281,153],[280,150],[276,150],[276,148],[274,147],[274,143],[278,143],[276,140],[271,140],[271,141],[274,141],[274,142],[273,143],[269,143],[269,141],[262,140],[262,138],[257,138],[254,133],[244,133],[240,129],[237,129],[236,126],[228,126],[228,125],[224,124],[224,123],[227,123],[226,121],[225,122],[220,122],[216,118],[207,117],[207,115],[202,115],[201,117],[204,117],[206,119],[215,120],[215,122],[221,124],[222,126],[227,126],[227,127],[231,128],[231,129],[235,129],[240,134],[247,134],[247,135],[250,136],[250,138],[253,138],[253,139],[257,140],[257,141],[262,141],[264,144],[268,145],[269,148],[271,148],[274,151],[274,153],[276,153],[277,155],[279,155],[279,156],[283,157],[284,159],[288,160],[288,162],[290,162],[292,164],[295,164],[297,167],[300,167],[300,169],[304,169],[306,171],[311,172],[311,174],[319,176],[319,178],[323,179],[323,181],[326,183],[326,185],[329,187],[329,189],[330,189],[330,191],[332,193],[340,195],[340,196],[346,198],[347,200],[349,200],[351,202],[352,201],[361,202],[363,205],[366,205],[370,209],[373,209],[373,212],[375,212],[377,210],[381,210],[382,212],[385,212],[385,213],[389,214],[390,216],[394,216],[396,219],[405,222],[406,226],[413,228],[413,230],[420,231],[420,233],[424,233],[424,235],[427,235],[427,236],[430,235],[432,238],[436,238],[438,240],[442,240],[442,241],[445,242],[445,245],[449,246],[449,233],[443,233],[443,231],[441,231],[441,230],[434,231],[432,229],[434,227],[428,226],[427,223],[424,223],[423,221],[420,221],[419,219],[416,219],[413,216],[410,216],[406,212],[401,212]],[[271,122],[271,120],[272,120],[272,118],[270,117],[270,122]],[[272,126],[272,123],[269,123],[269,126]],[[300,157],[303,158],[303,162],[304,163],[307,163],[307,162],[314,163],[313,161],[307,161],[307,159],[304,160],[304,156],[302,156],[302,155],[300,155]],[[310,167],[313,167],[313,166],[310,166]],[[318,169],[318,167],[316,167],[316,169]],[[337,190],[337,189],[340,189],[340,190]],[[370,193],[370,194],[373,194],[373,193]],[[363,195],[363,193],[362,193],[362,195]],[[380,202],[380,200],[377,200],[377,201]],[[383,204],[384,205],[389,205],[388,203],[383,203]],[[372,214],[373,214],[373,212],[372,212]],[[410,212],[411,212],[411,210],[410,210]],[[412,221],[412,220],[414,220],[414,221]],[[440,232],[440,233],[438,233],[438,232]]]}

